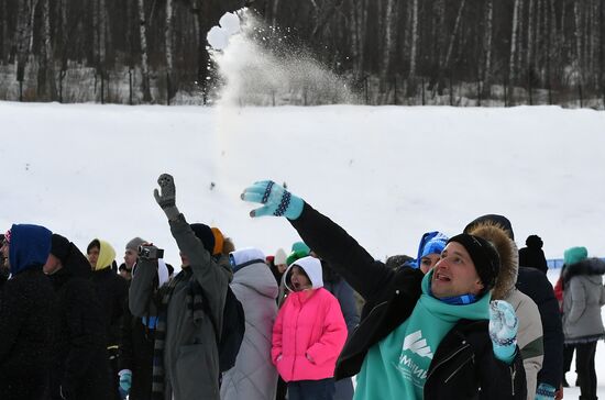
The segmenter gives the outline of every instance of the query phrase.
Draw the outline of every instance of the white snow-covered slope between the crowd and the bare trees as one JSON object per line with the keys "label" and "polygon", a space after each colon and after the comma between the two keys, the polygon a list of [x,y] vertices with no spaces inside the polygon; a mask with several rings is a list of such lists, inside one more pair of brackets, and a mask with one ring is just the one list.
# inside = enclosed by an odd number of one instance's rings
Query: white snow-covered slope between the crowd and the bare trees
{"label": "white snow-covered slope between the crowd and the bare trees", "polygon": [[[0,230],[38,223],[82,249],[101,237],[122,254],[142,236],[177,264],[152,195],[166,171],[190,222],[266,254],[298,237],[282,219],[250,219],[239,195],[272,178],[376,258],[415,254],[424,232],[455,234],[484,213],[507,215],[519,246],[540,235],[548,258],[575,245],[605,255],[605,112],[0,102]],[[602,344],[597,364],[605,385]]]}

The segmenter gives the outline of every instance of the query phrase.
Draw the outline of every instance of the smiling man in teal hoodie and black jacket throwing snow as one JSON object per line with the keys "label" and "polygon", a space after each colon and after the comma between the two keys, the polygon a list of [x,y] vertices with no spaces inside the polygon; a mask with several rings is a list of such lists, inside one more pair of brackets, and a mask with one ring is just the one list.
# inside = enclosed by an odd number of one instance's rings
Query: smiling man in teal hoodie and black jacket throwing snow
{"label": "smiling man in teal hoodie and black jacket throwing snow", "polygon": [[427,275],[395,271],[273,181],[246,188],[242,199],[263,204],[251,216],[286,216],[365,299],[336,367],[337,379],[358,375],[355,400],[526,398],[517,318],[505,301],[491,303],[501,263],[492,243],[460,234]]}

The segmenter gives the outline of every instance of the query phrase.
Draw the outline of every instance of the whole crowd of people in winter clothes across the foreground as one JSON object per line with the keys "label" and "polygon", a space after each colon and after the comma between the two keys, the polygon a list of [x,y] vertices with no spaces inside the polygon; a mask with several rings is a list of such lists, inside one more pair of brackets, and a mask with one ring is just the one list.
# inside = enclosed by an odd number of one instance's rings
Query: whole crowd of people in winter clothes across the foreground
{"label": "whole crowd of people in winter clothes across the foreground", "polygon": [[487,214],[383,263],[262,181],[242,193],[251,216],[302,240],[265,255],[188,223],[172,176],[158,186],[176,275],[151,238],[118,266],[101,238],[85,255],[40,225],[0,235],[0,399],[561,399],[573,352],[581,399],[597,398],[605,263],[584,247],[553,289],[541,238],[518,249]]}

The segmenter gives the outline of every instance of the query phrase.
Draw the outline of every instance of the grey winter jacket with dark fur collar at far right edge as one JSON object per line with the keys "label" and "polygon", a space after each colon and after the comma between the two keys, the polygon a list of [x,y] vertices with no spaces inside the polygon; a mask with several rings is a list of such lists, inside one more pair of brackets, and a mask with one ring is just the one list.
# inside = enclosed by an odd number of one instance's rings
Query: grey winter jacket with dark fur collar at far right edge
{"label": "grey winter jacket with dark fur collar at far right edge", "polygon": [[605,337],[601,307],[605,304],[603,288],[605,262],[584,259],[568,265],[563,273],[563,332],[565,343],[596,342]]}

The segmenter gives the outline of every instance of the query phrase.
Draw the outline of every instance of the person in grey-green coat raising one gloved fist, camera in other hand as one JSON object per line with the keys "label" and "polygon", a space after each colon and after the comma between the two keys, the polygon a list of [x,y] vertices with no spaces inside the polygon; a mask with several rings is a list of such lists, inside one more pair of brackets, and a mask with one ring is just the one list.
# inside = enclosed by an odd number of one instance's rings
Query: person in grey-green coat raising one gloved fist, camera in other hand
{"label": "person in grey-green coat raising one gloved fist, camera in other hand", "polygon": [[153,399],[219,400],[215,324],[222,326],[229,264],[222,266],[212,257],[215,235],[210,227],[189,225],[178,211],[173,177],[163,174],[157,184],[160,191],[156,189],[154,197],[168,218],[183,266],[180,273],[157,289],[154,278],[160,249],[142,246],[130,286],[132,314],[145,316],[151,303],[157,316]]}

